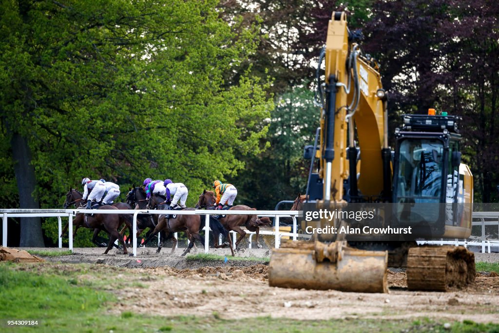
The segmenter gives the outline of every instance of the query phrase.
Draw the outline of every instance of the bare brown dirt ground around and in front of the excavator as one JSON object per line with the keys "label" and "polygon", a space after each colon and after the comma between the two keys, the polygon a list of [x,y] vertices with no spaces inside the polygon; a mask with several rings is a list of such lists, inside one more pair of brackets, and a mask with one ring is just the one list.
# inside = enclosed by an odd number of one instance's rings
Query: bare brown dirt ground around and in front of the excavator
{"label": "bare brown dirt ground around and in front of the excavator", "polygon": [[[133,268],[147,288],[116,288],[119,304],[113,312],[162,316],[196,315],[238,319],[258,316],[315,319],[417,319],[499,323],[499,277],[477,277],[474,285],[448,293],[409,292],[404,272],[388,274],[389,294],[309,291],[268,286],[267,266],[261,262],[207,263],[186,261],[181,250],[157,255],[141,248],[136,258],[111,250],[74,249],[75,254],[50,258],[62,263],[95,263]],[[197,253],[202,253],[198,250]],[[213,253],[213,249],[210,249]],[[226,254],[220,252],[221,254]],[[238,256],[268,257],[268,250]],[[48,258],[46,258],[48,259]],[[499,254],[476,254],[476,261],[499,262]],[[64,265],[62,265],[64,266]],[[98,265],[100,266],[100,265]],[[88,277],[82,277],[85,279]]]}

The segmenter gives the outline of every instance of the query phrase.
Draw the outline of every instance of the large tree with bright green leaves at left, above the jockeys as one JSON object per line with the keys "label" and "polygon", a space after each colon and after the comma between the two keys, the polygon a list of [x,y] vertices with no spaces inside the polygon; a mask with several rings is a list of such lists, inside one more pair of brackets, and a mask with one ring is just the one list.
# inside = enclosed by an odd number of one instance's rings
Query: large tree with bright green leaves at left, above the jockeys
{"label": "large tree with bright green leaves at left, above the jockeys", "polygon": [[2,139],[32,171],[16,173],[19,197],[53,208],[83,177],[152,177],[185,182],[193,204],[212,179],[243,168],[235,154],[258,153],[272,102],[248,73],[225,84],[256,43],[216,4],[4,0]]}

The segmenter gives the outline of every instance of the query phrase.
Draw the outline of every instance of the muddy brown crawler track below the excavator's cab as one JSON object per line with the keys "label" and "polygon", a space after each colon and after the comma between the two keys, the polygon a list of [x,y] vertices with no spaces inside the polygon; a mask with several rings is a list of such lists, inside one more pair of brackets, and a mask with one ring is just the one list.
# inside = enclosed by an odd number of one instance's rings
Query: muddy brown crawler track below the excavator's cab
{"label": "muddy brown crawler track below the excavator's cab", "polygon": [[409,290],[445,292],[475,281],[475,255],[460,246],[420,246],[407,257]]}

